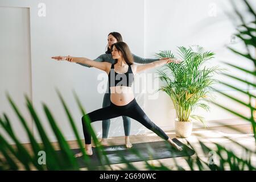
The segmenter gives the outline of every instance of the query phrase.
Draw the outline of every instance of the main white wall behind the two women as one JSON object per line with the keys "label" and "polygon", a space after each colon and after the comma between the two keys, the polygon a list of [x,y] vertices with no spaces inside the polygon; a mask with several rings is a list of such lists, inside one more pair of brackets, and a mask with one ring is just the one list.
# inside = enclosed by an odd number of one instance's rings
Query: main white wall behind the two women
{"label": "main white wall behind the two women", "polygon": [[[0,6],[30,9],[32,101],[49,135],[53,136],[42,102],[53,111],[65,137],[71,140],[74,139],[73,133],[55,88],[60,90],[72,111],[82,137],[81,113],[72,90],[76,91],[87,112],[100,108],[104,94],[96,90],[99,83],[97,76],[102,72],[77,64],[58,62],[52,60],[51,56],[72,55],[94,59],[105,52],[108,33],[117,31],[121,32],[131,51],[139,56],[154,57],[158,50],[175,50],[177,46],[199,44],[216,52],[214,61],[217,64],[218,60],[238,59],[224,48],[234,29],[222,13],[221,2],[1,0]],[[38,15],[39,3],[46,5],[46,16]],[[217,7],[217,16],[209,15],[211,3]],[[163,129],[173,129],[175,111],[165,93],[160,92],[156,100],[148,100],[148,95],[143,93],[135,95],[152,121]],[[214,115],[208,119],[214,120]],[[121,118],[112,120],[109,137],[124,135]],[[15,124],[18,121],[13,122]],[[101,122],[93,123],[93,127],[101,136]],[[142,125],[132,121],[131,135],[145,131]]]}

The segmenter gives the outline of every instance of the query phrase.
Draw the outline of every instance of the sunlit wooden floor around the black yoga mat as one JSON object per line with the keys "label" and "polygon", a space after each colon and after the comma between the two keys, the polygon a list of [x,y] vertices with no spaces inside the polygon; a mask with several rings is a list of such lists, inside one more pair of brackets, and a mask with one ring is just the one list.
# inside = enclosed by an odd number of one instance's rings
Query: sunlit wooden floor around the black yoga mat
{"label": "sunlit wooden floor around the black yoga mat", "polygon": [[[175,131],[165,131],[166,134],[170,138],[177,138],[175,136]],[[233,126],[221,126],[221,127],[209,127],[207,129],[193,129],[193,133],[191,137],[183,139],[183,138],[177,138],[180,140],[180,142],[183,142],[184,144],[187,144],[188,142],[192,144],[193,147],[195,147],[195,150],[200,148],[200,145],[198,144],[198,140],[203,139],[204,142],[208,143],[209,146],[213,144],[213,142],[217,142],[220,144],[224,144],[225,147],[230,147],[232,150],[236,150],[234,152],[237,152],[238,154],[241,152],[240,149],[236,146],[233,146],[232,143],[230,143],[226,137],[230,137],[235,140],[239,140],[239,143],[243,144],[244,146],[248,146],[251,148],[251,150],[255,151],[255,140],[253,138],[253,130],[251,128],[251,125],[233,125]],[[162,140],[154,133],[149,134],[142,134],[142,135],[132,135],[130,136],[131,143],[143,143],[143,142],[155,142]],[[110,145],[117,145],[117,144],[123,144],[125,142],[125,137],[113,137],[109,138],[108,142]],[[76,140],[68,141],[71,148],[79,148],[77,146]],[[53,142],[53,146],[56,150],[58,150],[58,143]],[[28,149],[28,151],[31,151],[30,144],[24,144],[24,146]],[[198,155],[201,158],[204,158],[204,154],[201,151],[197,151]],[[208,159],[205,158],[207,161]],[[185,159],[183,157],[175,158],[175,161],[179,163],[179,165],[183,166],[185,169],[189,169],[187,166],[187,163],[185,162]],[[256,160],[253,159],[253,161],[256,163]],[[149,163],[154,164],[155,166],[158,166],[159,162],[163,163],[165,166],[175,169],[174,168],[174,159],[160,159],[160,160],[150,160]],[[139,170],[147,170],[144,166],[144,162],[134,162],[133,165],[137,167]],[[112,169],[118,170],[122,167],[125,167],[125,164],[112,164]],[[109,168],[110,169],[110,168]],[[86,170],[86,168],[81,168],[81,170]]]}

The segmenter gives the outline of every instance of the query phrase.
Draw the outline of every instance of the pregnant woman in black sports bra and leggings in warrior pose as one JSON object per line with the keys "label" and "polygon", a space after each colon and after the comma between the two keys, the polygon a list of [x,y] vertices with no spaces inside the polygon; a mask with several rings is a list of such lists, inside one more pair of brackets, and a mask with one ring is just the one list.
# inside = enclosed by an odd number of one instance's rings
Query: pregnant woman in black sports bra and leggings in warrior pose
{"label": "pregnant woman in black sports bra and leggings in warrior pose", "polygon": [[[153,131],[159,137],[167,140],[177,150],[182,150],[177,146],[162,129],[155,125],[154,122],[147,117],[141,107],[135,100],[131,85],[133,84],[134,75],[146,69],[156,68],[161,65],[175,61],[180,63],[179,60],[166,59],[154,61],[144,65],[133,64],[133,55],[129,47],[124,42],[114,43],[112,45],[112,56],[115,63],[97,62],[87,59],[85,57],[71,57],[71,56],[55,56],[52,59],[67,60],[73,63],[88,64],[91,67],[105,71],[109,76],[109,89],[110,89],[110,105],[98,110],[94,110],[82,117],[82,129],[85,138],[85,151],[86,154],[92,155],[91,135],[85,126],[85,117],[89,117],[90,122],[101,121],[111,118],[116,118],[121,115],[130,117],[140,122],[147,129]],[[76,154],[76,157],[82,155],[82,152]]]}

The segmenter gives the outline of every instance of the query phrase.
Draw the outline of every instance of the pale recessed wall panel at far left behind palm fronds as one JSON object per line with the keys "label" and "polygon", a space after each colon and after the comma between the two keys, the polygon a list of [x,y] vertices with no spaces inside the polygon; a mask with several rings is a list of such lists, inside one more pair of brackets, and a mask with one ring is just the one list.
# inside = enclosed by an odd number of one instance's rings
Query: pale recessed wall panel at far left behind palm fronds
{"label": "pale recessed wall panel at far left behind palm fronds", "polygon": [[[26,7],[0,6],[0,111],[4,111],[12,121],[16,137],[26,142],[22,125],[7,100],[8,93],[32,129],[32,119],[24,104],[24,93],[32,98],[31,59],[30,59],[30,11]],[[3,132],[0,126],[1,134]]]}

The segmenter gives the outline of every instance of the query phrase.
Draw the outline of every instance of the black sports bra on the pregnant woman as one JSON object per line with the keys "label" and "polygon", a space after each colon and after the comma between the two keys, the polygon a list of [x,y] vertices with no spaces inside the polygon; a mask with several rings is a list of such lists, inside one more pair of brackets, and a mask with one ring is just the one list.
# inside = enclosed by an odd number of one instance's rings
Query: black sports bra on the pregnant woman
{"label": "black sports bra on the pregnant woman", "polygon": [[117,73],[114,70],[114,64],[111,65],[111,69],[109,72],[109,87],[112,86],[130,86],[133,84],[134,75],[131,70],[131,65],[128,67],[128,71],[126,73]]}

